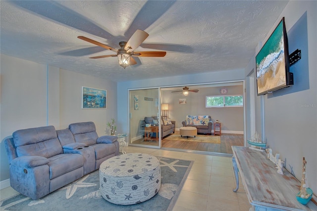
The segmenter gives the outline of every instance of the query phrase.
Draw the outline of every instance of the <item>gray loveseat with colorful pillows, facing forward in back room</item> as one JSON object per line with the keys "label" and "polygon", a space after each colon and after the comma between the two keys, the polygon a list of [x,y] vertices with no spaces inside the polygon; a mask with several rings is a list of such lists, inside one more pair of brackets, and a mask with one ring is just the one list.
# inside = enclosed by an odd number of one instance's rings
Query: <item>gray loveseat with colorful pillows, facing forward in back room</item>
{"label": "gray loveseat with colorful pillows, facing forward in back room", "polygon": [[211,135],[211,126],[213,122],[209,115],[187,115],[185,121],[182,121],[183,127],[196,127],[197,133],[205,133]]}

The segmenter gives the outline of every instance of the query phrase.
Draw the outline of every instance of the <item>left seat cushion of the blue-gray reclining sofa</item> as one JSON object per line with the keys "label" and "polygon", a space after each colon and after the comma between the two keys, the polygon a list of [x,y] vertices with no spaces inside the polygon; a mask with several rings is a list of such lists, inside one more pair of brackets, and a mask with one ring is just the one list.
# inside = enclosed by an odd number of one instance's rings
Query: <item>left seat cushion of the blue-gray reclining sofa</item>
{"label": "left seat cushion of the blue-gray reclining sofa", "polygon": [[63,175],[84,165],[84,157],[79,154],[61,154],[49,158],[50,179]]}

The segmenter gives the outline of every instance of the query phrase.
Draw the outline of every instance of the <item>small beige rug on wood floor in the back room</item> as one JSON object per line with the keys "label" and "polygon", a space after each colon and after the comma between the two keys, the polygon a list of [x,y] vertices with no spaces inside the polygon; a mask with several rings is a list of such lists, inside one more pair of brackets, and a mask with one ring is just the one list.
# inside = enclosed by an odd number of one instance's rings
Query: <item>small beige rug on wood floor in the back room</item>
{"label": "small beige rug on wood floor in the back room", "polygon": [[211,135],[197,135],[196,137],[186,136],[181,137],[179,133],[172,134],[165,138],[166,140],[174,141],[190,141],[190,142],[205,142],[211,144],[220,144],[220,136],[211,136]]}

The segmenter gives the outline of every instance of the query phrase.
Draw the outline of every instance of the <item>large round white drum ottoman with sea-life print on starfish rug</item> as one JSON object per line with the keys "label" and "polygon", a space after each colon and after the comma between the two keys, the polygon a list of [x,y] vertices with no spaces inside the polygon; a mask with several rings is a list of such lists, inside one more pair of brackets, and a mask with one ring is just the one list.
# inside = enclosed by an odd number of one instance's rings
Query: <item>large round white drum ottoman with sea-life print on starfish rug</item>
{"label": "large round white drum ottoman with sea-life print on starfish rug", "polygon": [[108,202],[138,204],[159,192],[159,160],[141,153],[118,155],[100,165],[99,177],[100,192]]}

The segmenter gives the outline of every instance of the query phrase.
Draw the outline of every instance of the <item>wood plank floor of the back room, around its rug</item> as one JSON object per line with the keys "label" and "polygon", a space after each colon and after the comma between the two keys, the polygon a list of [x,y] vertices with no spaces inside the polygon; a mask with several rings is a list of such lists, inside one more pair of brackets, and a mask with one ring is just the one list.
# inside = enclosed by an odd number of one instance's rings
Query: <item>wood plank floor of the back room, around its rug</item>
{"label": "wood plank floor of the back room, around its rug", "polygon": [[[177,132],[179,133],[179,131],[175,131],[176,134]],[[244,146],[244,137],[242,134],[223,134],[222,133],[220,136],[220,141],[221,141],[220,144],[175,141],[175,140],[168,140],[168,136],[166,136],[162,140],[162,147],[182,149],[182,150],[195,150],[195,151],[212,152],[212,153],[232,154],[231,146]],[[133,143],[158,146],[158,142],[144,142],[144,140],[138,140]]]}

